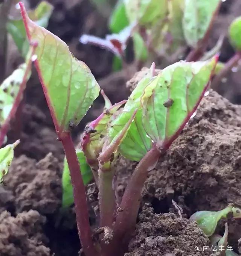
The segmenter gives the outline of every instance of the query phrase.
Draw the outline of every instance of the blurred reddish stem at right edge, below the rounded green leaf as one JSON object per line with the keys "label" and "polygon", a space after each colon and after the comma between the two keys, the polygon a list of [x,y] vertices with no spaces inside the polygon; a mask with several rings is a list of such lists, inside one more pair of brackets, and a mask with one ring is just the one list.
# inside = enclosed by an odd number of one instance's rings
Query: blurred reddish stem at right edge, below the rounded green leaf
{"label": "blurred reddish stem at right edge, below the rounded green leaf", "polygon": [[229,61],[225,64],[223,69],[214,77],[214,80],[212,81],[211,88],[214,90],[218,90],[218,86],[222,80],[223,77],[227,75],[227,73],[232,69],[232,67],[236,66],[238,61],[241,60],[241,51],[236,52],[235,55],[233,55],[232,58],[229,59]]}

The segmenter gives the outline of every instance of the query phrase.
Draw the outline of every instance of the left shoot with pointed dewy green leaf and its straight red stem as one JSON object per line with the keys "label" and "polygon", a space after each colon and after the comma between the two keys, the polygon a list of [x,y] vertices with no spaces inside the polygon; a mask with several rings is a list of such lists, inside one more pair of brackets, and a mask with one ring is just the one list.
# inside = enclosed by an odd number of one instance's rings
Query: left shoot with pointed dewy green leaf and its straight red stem
{"label": "left shoot with pointed dewy green leaf and its straight red stem", "polygon": [[87,256],[96,255],[88,219],[84,182],[70,130],[84,117],[100,89],[88,67],[72,56],[66,43],[31,21],[23,3],[19,4],[28,40],[30,43],[38,42],[34,64],[57,136],[66,153],[82,248]]}

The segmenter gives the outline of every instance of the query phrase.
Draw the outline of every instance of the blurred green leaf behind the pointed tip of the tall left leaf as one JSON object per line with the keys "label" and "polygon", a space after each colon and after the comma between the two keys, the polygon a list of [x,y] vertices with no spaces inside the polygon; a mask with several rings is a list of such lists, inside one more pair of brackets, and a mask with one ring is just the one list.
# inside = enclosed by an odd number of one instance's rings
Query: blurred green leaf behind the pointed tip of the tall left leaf
{"label": "blurred green leaf behind the pointed tip of the tall left leaf", "polygon": [[[29,11],[28,15],[36,24],[46,28],[52,11],[53,6],[46,1],[42,1],[34,10]],[[29,43],[27,41],[23,20],[14,20],[10,18],[7,23],[7,30],[17,45],[18,51],[25,57],[29,48]]]}

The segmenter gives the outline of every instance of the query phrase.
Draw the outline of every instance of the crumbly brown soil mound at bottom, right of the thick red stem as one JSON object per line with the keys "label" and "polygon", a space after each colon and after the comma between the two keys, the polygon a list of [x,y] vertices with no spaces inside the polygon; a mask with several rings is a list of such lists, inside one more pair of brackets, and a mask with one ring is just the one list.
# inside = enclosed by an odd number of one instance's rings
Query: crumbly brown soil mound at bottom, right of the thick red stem
{"label": "crumbly brown soil mound at bottom, right of the thick red stem", "polygon": [[179,218],[173,213],[156,214],[145,207],[139,214],[136,237],[125,256],[204,256],[209,251],[195,251],[195,246],[207,246],[209,239],[196,222]]}

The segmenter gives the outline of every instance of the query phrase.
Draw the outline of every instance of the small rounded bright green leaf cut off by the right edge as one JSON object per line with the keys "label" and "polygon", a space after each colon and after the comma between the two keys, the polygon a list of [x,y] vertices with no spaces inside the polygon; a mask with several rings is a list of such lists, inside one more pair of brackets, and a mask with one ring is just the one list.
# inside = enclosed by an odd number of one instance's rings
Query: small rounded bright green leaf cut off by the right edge
{"label": "small rounded bright green leaf cut off by the right edge", "polygon": [[241,51],[241,16],[235,18],[229,26],[229,38],[232,46]]}

